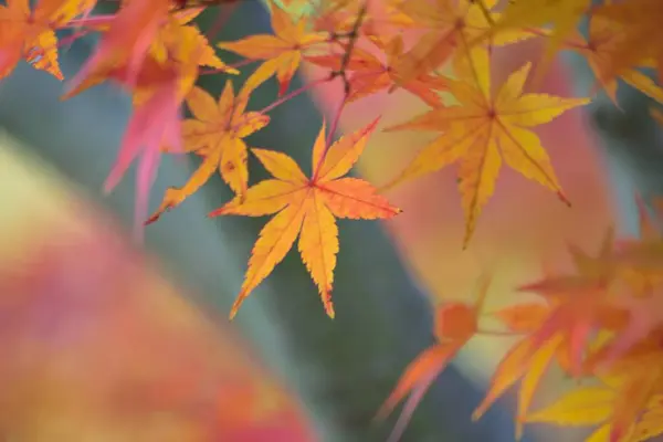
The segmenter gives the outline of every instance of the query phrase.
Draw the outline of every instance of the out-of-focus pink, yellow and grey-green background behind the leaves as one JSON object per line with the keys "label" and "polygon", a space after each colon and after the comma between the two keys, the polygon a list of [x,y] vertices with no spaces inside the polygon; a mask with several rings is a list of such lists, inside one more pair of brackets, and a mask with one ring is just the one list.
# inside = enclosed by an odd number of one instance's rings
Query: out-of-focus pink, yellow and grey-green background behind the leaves
{"label": "out-of-focus pink, yellow and grey-green background behind the leaves", "polygon": [[[214,13],[199,18],[208,29]],[[242,2],[220,40],[270,32],[259,2]],[[62,51],[75,73],[94,36]],[[503,51],[499,82],[538,59],[536,42]],[[225,59],[224,59],[225,60]],[[225,60],[231,63],[232,56]],[[293,84],[319,73],[306,70]],[[544,91],[585,96],[591,75],[560,57]],[[220,93],[224,78],[201,85]],[[308,158],[338,85],[280,106],[250,145]],[[615,109],[603,96],[538,127],[569,209],[541,187],[503,170],[475,236],[461,250],[463,215],[451,167],[388,197],[404,212],[388,223],[340,222],[337,318],[324,316],[295,253],[227,320],[263,219],[208,219],[230,198],[214,177],[202,191],[130,241],[134,178],[110,194],[102,182],[115,160],[129,101],[102,85],[61,102],[62,84],[21,64],[0,83],[0,440],[3,441],[381,441],[393,425],[372,421],[407,364],[430,346],[431,306],[471,299],[494,275],[488,308],[516,301],[514,287],[565,266],[567,244],[594,250],[610,224],[635,234],[635,191],[660,194],[661,138],[649,102],[623,86]],[[250,108],[274,101],[260,90]],[[380,94],[346,108],[339,131],[383,109],[381,126],[425,109],[411,96]],[[376,133],[358,173],[381,185],[428,134]],[[164,160],[150,196],[159,203],[196,167]],[[260,167],[250,164],[252,181]],[[255,182],[255,181],[253,181]],[[499,340],[503,339],[503,340]],[[435,382],[403,441],[511,441],[513,411],[498,402],[470,417],[508,338],[474,339]],[[550,378],[535,401],[555,397]],[[549,394],[551,393],[551,394]],[[548,397],[547,397],[548,394]],[[547,429],[530,440],[558,440]]]}

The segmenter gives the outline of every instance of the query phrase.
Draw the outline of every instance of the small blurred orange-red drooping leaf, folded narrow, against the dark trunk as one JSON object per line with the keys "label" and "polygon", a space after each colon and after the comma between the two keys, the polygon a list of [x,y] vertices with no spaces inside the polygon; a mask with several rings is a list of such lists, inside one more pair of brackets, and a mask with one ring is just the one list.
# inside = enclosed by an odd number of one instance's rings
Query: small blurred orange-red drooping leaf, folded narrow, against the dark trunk
{"label": "small blurred orange-red drooping leaf, folded narrow, against the dark trunk", "polygon": [[389,436],[389,442],[400,439],[412,413],[432,382],[459,350],[478,332],[478,316],[488,291],[488,277],[484,276],[480,280],[477,298],[473,305],[449,303],[436,309],[436,344],[419,354],[408,365],[398,380],[396,388],[378,411],[378,419],[385,419],[398,402],[410,394]]}

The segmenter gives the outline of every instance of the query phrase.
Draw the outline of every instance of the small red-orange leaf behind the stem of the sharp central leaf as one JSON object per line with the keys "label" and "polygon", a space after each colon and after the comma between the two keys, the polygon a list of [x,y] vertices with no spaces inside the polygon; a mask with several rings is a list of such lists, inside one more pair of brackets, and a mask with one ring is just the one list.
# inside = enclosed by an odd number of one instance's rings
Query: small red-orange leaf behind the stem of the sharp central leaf
{"label": "small red-orange leaf behind the stem of the sharp central leaf", "polygon": [[[383,51],[386,61],[381,61],[372,53],[352,48],[350,57],[347,61],[347,71],[351,71],[348,76],[350,85],[350,94],[347,102],[351,103],[359,98],[376,94],[383,90],[390,90],[399,76],[399,60],[403,54],[403,41],[400,35],[386,41],[380,35],[370,35],[369,41],[373,43],[376,49]],[[347,49],[346,49],[347,50]],[[319,66],[329,67],[333,72],[338,72],[344,64],[344,55],[308,55],[306,61]],[[419,77],[406,83],[403,88],[424,101],[432,107],[442,106],[442,101],[438,91],[446,90],[446,81],[433,74],[421,74]]]}

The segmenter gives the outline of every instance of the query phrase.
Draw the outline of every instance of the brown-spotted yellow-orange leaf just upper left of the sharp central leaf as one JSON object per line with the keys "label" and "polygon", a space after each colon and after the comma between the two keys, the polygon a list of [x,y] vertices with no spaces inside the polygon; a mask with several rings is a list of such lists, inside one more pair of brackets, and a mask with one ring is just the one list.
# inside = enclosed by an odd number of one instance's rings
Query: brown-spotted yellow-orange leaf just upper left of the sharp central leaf
{"label": "brown-spotted yellow-orange leaf just upper left of the sharp central leaf", "polygon": [[235,97],[232,82],[228,80],[218,103],[203,90],[191,90],[187,104],[196,119],[187,119],[182,124],[183,150],[196,152],[204,159],[182,188],[166,190],[164,202],[146,223],[155,222],[166,210],[181,203],[204,185],[215,170],[221,172],[235,193],[241,198],[245,194],[249,170],[243,138],[270,122],[267,115],[245,112],[253,90],[254,85],[248,81]]}

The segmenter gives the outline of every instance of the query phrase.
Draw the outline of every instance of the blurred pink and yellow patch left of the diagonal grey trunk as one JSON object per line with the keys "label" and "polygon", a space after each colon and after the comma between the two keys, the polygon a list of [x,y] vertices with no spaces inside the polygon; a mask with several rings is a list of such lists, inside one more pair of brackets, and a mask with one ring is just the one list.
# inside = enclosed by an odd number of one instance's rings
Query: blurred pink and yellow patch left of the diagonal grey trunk
{"label": "blurred pink and yellow patch left of the diagonal grey trunk", "polygon": [[[7,159],[4,189],[42,179],[34,165],[21,178]],[[316,440],[224,320],[189,302],[88,202],[48,182],[33,199],[3,198],[21,222],[0,215],[2,439]]]}

